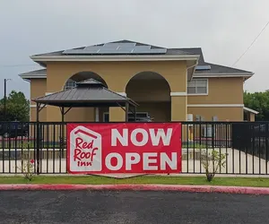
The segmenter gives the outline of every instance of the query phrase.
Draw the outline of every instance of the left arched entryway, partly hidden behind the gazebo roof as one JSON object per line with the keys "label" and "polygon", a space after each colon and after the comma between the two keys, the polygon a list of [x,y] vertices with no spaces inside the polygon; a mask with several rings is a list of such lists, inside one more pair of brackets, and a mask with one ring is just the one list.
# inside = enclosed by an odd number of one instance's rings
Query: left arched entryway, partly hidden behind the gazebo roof
{"label": "left arched entryway, partly hidden behind the gazebo roof", "polygon": [[[98,74],[93,72],[80,72],[72,75],[63,86],[63,90],[76,87],[76,82],[82,82],[87,79],[95,79],[102,82],[107,88],[108,84]],[[108,108],[72,108],[65,116],[67,122],[101,122],[103,115],[108,112]]]}

